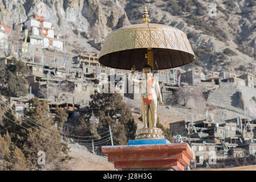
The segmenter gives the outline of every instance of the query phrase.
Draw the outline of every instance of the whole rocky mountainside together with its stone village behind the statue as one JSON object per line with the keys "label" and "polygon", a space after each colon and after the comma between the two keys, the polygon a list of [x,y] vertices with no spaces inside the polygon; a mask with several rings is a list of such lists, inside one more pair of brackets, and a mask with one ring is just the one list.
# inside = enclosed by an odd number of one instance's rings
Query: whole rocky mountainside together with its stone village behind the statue
{"label": "whole rocky mountainside together with its stone village behind the statue", "polygon": [[[209,2],[201,0],[54,2],[0,5],[0,70],[22,61],[31,71],[26,76],[29,94],[5,97],[17,118],[24,117],[30,99],[38,97],[47,102],[50,117],[55,118],[60,107],[68,114],[64,126],[77,125],[97,90],[100,73],[111,76],[111,70],[98,61],[104,37],[116,28],[138,23],[138,8],[147,4],[152,22],[186,32],[197,57],[188,66],[155,72],[164,98],[164,107],[158,111],[160,123],[172,131],[176,142],[182,139],[190,144],[195,154],[192,168],[255,164],[253,0],[216,1],[218,20],[209,18]],[[19,15],[12,16],[15,13]],[[115,70],[115,77],[129,73]],[[142,127],[139,94],[121,95],[138,128]],[[93,145],[63,135],[62,140],[84,148]],[[217,164],[209,163],[215,155],[211,151],[216,151]]]}

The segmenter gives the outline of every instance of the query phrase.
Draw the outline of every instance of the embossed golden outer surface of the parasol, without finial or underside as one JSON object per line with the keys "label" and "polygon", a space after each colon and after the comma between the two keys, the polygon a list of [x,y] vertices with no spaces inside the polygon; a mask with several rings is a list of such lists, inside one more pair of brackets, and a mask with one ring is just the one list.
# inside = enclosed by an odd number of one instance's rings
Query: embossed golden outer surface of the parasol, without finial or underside
{"label": "embossed golden outer surface of the parasol, without finial or underside", "polygon": [[165,48],[194,52],[184,32],[161,24],[142,23],[123,27],[107,36],[99,57],[111,52],[137,48]]}

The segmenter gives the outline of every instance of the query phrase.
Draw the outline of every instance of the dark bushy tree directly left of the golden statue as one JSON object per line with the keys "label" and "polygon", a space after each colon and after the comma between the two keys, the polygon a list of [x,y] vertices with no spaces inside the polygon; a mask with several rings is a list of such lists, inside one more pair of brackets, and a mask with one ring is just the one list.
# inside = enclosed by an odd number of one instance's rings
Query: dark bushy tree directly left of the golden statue
{"label": "dark bushy tree directly left of the golden statue", "polygon": [[[127,144],[128,140],[135,138],[136,123],[132,118],[131,110],[124,104],[120,94],[95,91],[91,99],[88,111],[79,117],[81,124],[74,131],[76,135],[94,136],[91,139],[100,139],[95,142],[103,141],[97,144],[96,148],[111,144],[111,142],[107,143],[106,137],[109,134],[109,126],[113,133],[114,144]],[[105,135],[97,138],[97,134],[102,133]],[[101,137],[104,138],[101,139]]]}

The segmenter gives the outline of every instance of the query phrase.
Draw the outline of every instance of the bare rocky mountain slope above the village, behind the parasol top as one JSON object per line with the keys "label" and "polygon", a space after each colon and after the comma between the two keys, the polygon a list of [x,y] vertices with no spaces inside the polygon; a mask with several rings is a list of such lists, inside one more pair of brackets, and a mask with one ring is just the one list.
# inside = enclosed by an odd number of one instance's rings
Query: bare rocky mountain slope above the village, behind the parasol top
{"label": "bare rocky mountain slope above the village, behind the parasol top", "polygon": [[[185,67],[203,71],[255,72],[256,1],[225,0],[0,0],[0,19],[23,23],[45,16],[66,35],[74,50],[99,53],[105,36],[116,28],[140,23],[147,6],[152,23],[188,34],[196,61]],[[214,13],[216,16],[210,16]],[[213,15],[213,14],[211,14]]]}

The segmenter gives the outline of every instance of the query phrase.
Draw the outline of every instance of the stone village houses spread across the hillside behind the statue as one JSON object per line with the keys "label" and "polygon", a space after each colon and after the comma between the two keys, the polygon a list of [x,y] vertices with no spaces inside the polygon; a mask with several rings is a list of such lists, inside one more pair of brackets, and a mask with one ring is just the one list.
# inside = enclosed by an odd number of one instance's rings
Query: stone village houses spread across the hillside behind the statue
{"label": "stone village houses spread across the hillside behind the statue", "polygon": [[[109,68],[99,63],[97,55],[70,52],[65,37],[55,31],[51,22],[44,20],[43,16],[35,14],[22,24],[1,23],[0,28],[1,69],[14,64],[14,60],[21,60],[32,73],[26,78],[30,94],[10,97],[17,117],[22,117],[32,97],[39,97],[47,101],[53,117],[58,106],[67,111],[68,121],[76,122],[80,109],[88,105],[90,95],[97,90],[98,75],[109,75]],[[115,70],[115,76],[128,73]],[[217,152],[218,163],[224,166],[242,165],[245,159],[247,164],[255,163],[256,78],[253,73],[236,75],[225,71],[203,72],[201,69],[178,68],[155,74],[159,76],[166,108],[171,107],[172,102],[168,100],[177,90],[199,86],[208,105],[229,113],[226,115],[230,117],[222,117],[221,121],[214,119],[213,114],[198,121],[192,118],[190,121],[174,122],[168,118],[168,127],[174,137],[181,135],[182,140],[194,150],[194,167],[209,166],[210,151]],[[139,94],[123,93],[122,96],[139,101]],[[135,111],[135,108],[131,109]]]}

